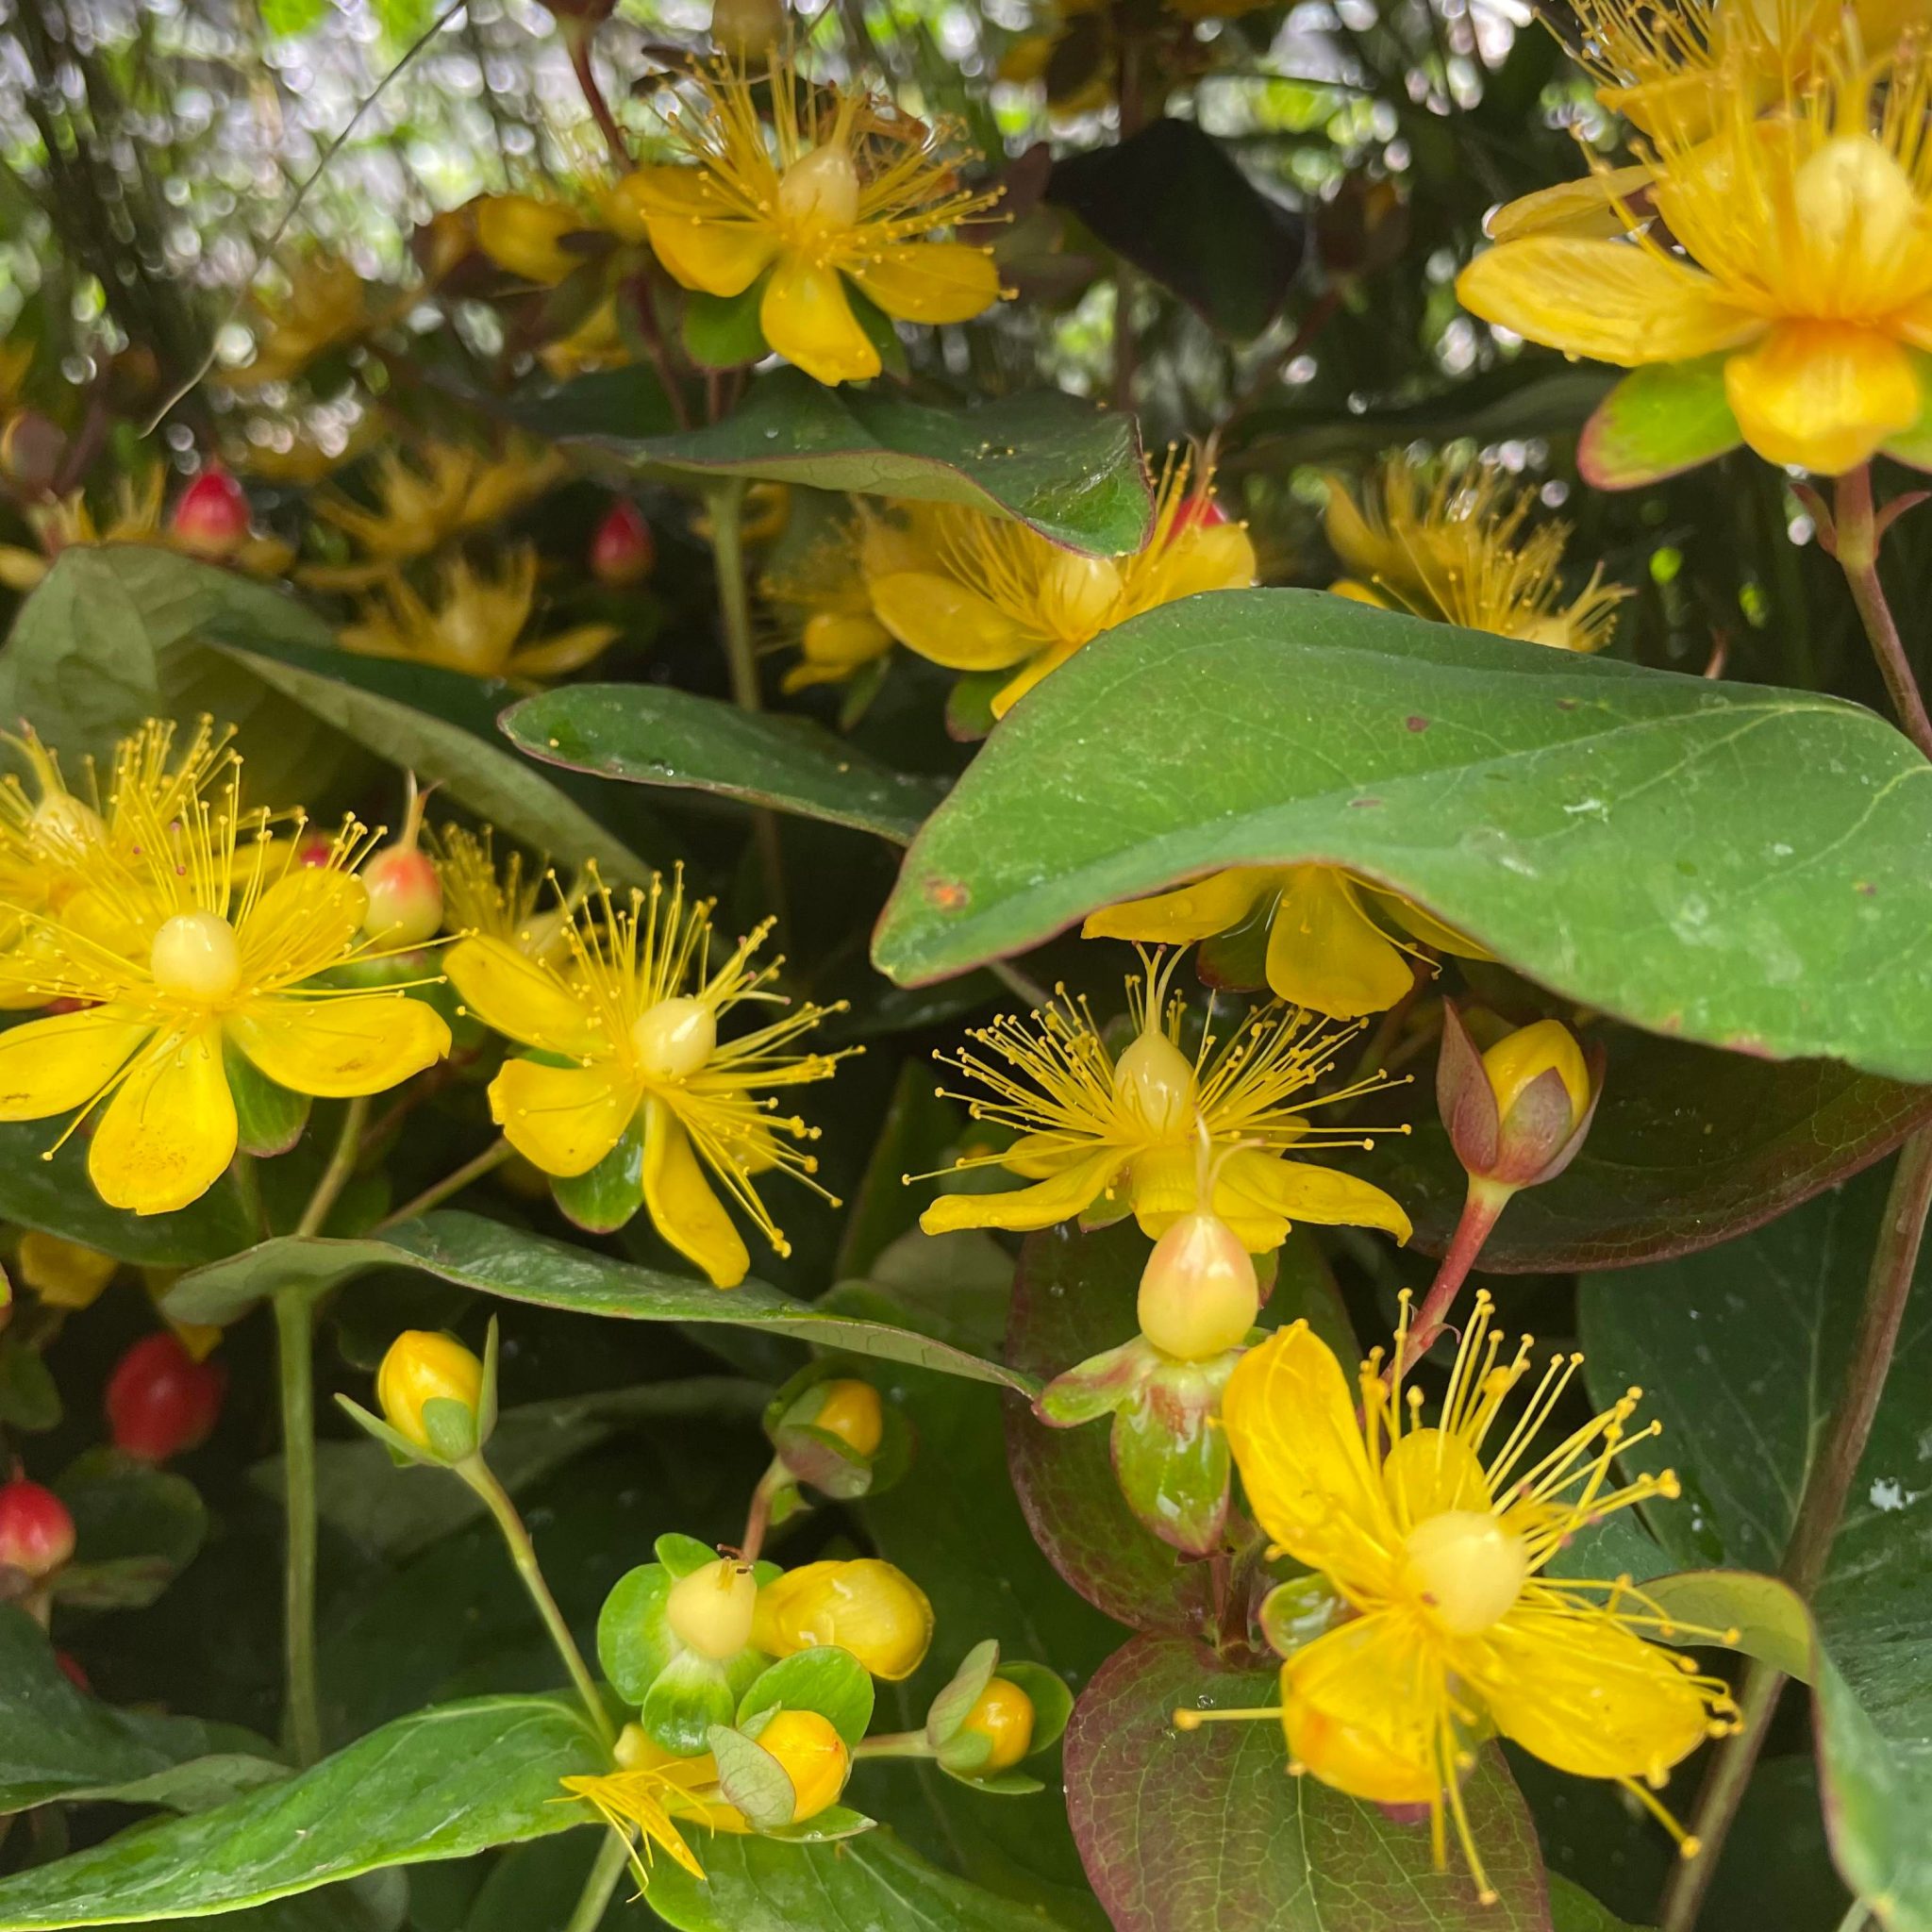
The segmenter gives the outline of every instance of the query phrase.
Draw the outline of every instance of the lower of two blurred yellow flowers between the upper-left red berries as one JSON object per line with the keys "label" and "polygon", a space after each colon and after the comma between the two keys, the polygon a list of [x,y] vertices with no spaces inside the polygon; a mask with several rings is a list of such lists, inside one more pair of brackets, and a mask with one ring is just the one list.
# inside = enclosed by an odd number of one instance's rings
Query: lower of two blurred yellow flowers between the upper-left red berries
{"label": "lower of two blurred yellow flowers between the upper-left red berries", "polygon": [[616,638],[614,624],[574,624],[522,643],[537,601],[537,553],[518,545],[495,578],[462,556],[442,564],[435,605],[400,578],[383,585],[383,603],[363,605],[361,620],[344,624],[342,647],[365,657],[402,657],[440,665],[471,678],[560,678],[582,670]]}

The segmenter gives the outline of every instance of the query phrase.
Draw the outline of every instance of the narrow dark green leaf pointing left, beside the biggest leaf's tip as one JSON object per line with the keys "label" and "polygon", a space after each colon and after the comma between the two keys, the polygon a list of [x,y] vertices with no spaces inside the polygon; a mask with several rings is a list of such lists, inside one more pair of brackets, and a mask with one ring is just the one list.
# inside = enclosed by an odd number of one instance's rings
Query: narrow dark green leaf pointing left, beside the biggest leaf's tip
{"label": "narrow dark green leaf pointing left, beside the biggest leaf's tip", "polygon": [[717,792],[908,844],[939,804],[931,779],[904,777],[810,719],[740,711],[667,684],[568,684],[502,715],[514,746],[551,765]]}

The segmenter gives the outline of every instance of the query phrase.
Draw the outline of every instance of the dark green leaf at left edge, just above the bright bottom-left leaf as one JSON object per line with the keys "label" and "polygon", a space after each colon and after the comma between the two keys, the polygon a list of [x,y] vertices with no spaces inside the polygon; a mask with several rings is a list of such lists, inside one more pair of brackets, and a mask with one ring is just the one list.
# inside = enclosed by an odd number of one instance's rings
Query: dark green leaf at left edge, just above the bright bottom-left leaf
{"label": "dark green leaf at left edge, just above the bright bottom-left leaf", "polygon": [[75,1689],[39,1623],[0,1604],[0,1814],[52,1799],[195,1810],[286,1776],[234,1725],[116,1710]]}

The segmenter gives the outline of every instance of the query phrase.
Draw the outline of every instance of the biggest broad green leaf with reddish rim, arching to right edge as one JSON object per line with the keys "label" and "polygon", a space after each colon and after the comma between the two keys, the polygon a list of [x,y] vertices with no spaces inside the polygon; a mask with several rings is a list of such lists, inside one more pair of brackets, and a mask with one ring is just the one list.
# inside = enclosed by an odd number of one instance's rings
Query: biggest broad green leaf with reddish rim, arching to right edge
{"label": "biggest broad green leaf with reddish rim, arching to right edge", "polygon": [[1321,591],[1190,597],[1014,707],[873,951],[933,980],[1221,866],[1325,860],[1652,1032],[1932,1080],[1924,771],[1832,697]]}

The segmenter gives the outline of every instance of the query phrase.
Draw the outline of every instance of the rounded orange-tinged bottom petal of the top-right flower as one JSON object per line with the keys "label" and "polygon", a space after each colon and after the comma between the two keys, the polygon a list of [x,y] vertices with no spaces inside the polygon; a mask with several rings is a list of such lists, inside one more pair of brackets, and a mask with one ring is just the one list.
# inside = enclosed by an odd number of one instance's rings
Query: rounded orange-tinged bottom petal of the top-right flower
{"label": "rounded orange-tinged bottom petal of the top-right flower", "polygon": [[1774,464],[1841,475],[1918,421],[1918,375],[1889,336],[1847,323],[1779,323],[1723,365],[1745,440]]}

